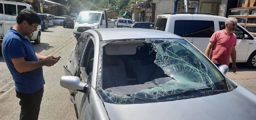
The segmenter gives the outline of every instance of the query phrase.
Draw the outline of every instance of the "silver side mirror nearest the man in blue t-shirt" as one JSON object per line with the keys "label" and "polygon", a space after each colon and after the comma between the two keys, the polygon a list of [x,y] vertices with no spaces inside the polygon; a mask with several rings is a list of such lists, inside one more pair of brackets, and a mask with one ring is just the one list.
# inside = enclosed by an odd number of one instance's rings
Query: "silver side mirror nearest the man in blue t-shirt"
{"label": "silver side mirror nearest the man in blue t-shirt", "polygon": [[80,81],[80,78],[76,76],[62,76],[60,78],[60,85],[67,89],[84,91],[84,87],[87,83],[83,83]]}

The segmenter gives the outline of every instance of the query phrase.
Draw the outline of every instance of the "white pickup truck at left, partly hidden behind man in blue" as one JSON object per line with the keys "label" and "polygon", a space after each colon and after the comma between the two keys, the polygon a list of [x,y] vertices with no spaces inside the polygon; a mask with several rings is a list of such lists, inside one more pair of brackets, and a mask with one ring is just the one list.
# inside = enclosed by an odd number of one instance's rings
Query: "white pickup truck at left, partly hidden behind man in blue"
{"label": "white pickup truck at left, partly hidden behind man in blue", "polygon": [[[3,0],[0,0],[0,6],[2,6],[2,8],[0,7],[0,10],[3,9],[3,12],[0,12],[0,54],[2,54],[3,38],[6,35],[9,28],[13,27],[17,23],[17,14],[25,8],[33,8],[30,4]],[[30,39],[30,41],[35,41],[36,44],[39,44],[41,32],[41,25],[39,25],[37,27],[37,31],[33,32],[30,36],[28,36],[28,38]]]}

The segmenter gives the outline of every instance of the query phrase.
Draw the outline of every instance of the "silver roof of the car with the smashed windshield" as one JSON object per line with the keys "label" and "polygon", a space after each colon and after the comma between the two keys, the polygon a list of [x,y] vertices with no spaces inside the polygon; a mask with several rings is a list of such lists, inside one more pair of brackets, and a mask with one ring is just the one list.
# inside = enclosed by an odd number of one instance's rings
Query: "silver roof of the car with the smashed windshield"
{"label": "silver roof of the car with the smashed windshield", "polygon": [[[134,29],[134,28],[103,28],[94,29],[102,40],[120,40],[120,39],[145,39],[145,38],[172,38],[183,39],[170,32],[152,29]],[[101,40],[100,40],[101,41]]]}

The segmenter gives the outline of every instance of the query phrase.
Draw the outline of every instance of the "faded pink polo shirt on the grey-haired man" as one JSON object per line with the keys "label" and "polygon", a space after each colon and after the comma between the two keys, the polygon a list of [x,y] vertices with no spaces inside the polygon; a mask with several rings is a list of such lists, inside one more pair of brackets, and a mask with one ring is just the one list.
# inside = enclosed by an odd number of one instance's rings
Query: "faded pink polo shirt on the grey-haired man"
{"label": "faded pink polo shirt on the grey-haired man", "polygon": [[210,53],[212,62],[229,66],[232,47],[236,46],[236,35],[228,36],[224,30],[219,30],[212,34],[210,41],[214,43]]}

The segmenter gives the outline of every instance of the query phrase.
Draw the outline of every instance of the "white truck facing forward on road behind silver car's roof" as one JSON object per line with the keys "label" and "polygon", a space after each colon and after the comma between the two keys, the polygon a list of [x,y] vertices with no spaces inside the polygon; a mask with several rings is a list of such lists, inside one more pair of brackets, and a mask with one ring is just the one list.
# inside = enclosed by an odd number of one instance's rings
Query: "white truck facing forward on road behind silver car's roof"
{"label": "white truck facing forward on road behind silver car's roof", "polygon": [[86,30],[114,28],[115,22],[108,21],[106,11],[81,11],[74,26],[74,36],[78,39]]}

